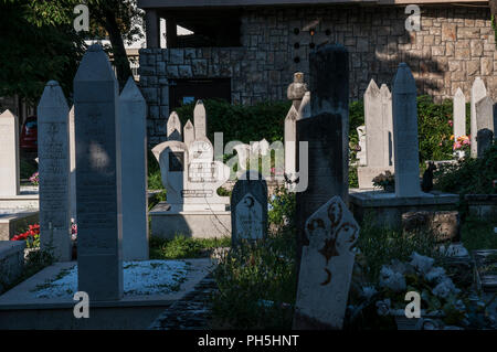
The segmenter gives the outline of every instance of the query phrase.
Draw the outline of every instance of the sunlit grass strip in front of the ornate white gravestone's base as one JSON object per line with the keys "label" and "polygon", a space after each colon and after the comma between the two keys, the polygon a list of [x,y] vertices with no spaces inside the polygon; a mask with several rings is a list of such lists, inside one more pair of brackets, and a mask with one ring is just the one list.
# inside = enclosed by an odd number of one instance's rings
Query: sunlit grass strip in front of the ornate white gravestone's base
{"label": "sunlit grass strip in front of the ornate white gravestone's base", "polygon": [[181,235],[172,239],[152,236],[150,238],[150,259],[200,258],[209,255],[216,247],[229,247],[230,237],[191,238]]}

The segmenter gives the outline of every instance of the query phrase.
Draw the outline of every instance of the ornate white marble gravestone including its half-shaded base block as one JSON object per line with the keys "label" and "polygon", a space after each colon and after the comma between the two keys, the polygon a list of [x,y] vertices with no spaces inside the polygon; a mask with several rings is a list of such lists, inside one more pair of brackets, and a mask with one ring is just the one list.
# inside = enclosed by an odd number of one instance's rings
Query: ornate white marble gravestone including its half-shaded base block
{"label": "ornate white marble gravestone including its half-shaded base block", "polygon": [[[195,124],[207,126],[200,100],[193,114]],[[167,190],[167,203],[149,212],[154,235],[220,237],[231,232],[230,198],[218,194],[230,178],[230,168],[213,160],[214,149],[203,130],[201,127],[198,135],[197,126],[188,121],[183,129],[186,142],[169,140],[152,149]]]}

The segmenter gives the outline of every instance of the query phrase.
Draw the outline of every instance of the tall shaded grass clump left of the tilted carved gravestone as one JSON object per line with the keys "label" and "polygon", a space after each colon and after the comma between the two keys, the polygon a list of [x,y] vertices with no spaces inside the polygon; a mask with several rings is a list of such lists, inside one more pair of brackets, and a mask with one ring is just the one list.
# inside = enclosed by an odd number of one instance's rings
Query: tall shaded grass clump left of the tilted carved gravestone
{"label": "tall shaded grass clump left of the tilted carved gravestone", "polygon": [[212,328],[290,329],[296,292],[295,235],[283,232],[233,248],[214,270]]}

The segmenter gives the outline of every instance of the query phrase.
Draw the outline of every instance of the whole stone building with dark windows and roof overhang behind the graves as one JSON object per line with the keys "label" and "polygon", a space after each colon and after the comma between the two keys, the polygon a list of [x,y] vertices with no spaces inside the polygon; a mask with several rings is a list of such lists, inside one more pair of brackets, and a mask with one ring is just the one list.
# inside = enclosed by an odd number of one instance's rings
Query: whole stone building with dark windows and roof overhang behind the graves
{"label": "whole stone building with dark windows and roof overhang behind the graves", "polygon": [[[233,104],[286,99],[294,72],[304,72],[308,79],[309,53],[322,43],[341,43],[349,51],[351,100],[362,98],[371,78],[391,88],[400,62],[410,65],[419,94],[442,100],[461,87],[469,97],[473,81],[480,76],[497,99],[496,41],[485,1],[419,3],[419,31],[406,30],[411,15],[406,4],[221,9],[199,4],[224,1],[190,0],[178,10],[171,7],[176,2],[138,1],[147,11],[147,49],[140,50],[139,73],[151,145],[165,140],[170,110],[191,99],[221,97]],[[190,2],[195,6],[186,8]],[[168,47],[159,47],[159,34],[154,33],[159,18],[194,34],[175,38],[171,30]]]}

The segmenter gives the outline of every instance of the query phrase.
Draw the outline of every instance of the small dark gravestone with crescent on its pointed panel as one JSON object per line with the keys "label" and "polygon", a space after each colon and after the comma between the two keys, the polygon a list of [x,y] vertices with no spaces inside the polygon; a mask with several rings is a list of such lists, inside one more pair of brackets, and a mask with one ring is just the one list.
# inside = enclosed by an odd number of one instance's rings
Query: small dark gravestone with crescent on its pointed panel
{"label": "small dark gravestone with crescent on its pointed panel", "polygon": [[256,241],[267,234],[267,184],[258,172],[246,172],[231,195],[231,242]]}

